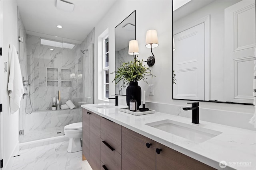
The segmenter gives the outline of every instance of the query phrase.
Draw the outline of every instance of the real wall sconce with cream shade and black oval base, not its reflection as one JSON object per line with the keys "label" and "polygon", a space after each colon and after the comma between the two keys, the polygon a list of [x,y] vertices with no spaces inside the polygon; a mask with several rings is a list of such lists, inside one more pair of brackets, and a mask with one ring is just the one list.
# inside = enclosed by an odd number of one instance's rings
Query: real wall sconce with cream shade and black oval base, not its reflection
{"label": "real wall sconce with cream shade and black oval base, not its reflection", "polygon": [[[146,48],[150,48],[151,49],[151,53],[152,53],[152,48],[155,48],[158,46],[158,38],[157,38],[157,33],[156,30],[154,29],[150,29],[147,31],[146,33]],[[148,66],[153,66],[155,64],[155,56],[152,53],[152,55],[150,57],[148,57],[147,59],[147,64]]]}

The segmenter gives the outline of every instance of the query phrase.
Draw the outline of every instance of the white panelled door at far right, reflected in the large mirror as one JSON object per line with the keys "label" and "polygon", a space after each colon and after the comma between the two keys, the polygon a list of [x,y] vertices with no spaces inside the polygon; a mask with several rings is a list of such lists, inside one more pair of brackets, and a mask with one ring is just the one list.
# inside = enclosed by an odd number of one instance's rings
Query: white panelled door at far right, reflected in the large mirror
{"label": "white panelled door at far right, reflected in the large mirror", "polygon": [[242,0],[225,9],[226,102],[253,103],[255,20],[255,0]]}

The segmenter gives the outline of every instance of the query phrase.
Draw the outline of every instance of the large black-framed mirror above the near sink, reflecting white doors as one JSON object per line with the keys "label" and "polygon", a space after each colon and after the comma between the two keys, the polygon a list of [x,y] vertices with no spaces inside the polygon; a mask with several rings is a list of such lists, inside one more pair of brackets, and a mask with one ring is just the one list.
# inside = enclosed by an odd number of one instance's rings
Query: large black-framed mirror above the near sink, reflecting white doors
{"label": "large black-framed mirror above the near sink, reflecting white doors", "polygon": [[172,98],[253,104],[255,0],[172,2]]}

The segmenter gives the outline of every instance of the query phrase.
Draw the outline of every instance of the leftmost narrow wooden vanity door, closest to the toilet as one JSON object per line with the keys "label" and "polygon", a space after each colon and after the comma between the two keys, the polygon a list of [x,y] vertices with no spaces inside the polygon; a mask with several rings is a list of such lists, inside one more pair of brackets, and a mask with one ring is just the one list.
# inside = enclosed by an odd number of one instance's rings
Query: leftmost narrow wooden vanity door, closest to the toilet
{"label": "leftmost narrow wooden vanity door, closest to the toilet", "polygon": [[90,115],[83,109],[83,155],[90,163]]}

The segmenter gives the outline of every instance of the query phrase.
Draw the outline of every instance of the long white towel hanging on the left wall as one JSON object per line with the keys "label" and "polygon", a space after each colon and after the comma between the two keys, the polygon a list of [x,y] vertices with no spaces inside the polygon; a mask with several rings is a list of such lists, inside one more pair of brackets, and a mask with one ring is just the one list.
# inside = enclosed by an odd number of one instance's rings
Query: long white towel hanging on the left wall
{"label": "long white towel hanging on the left wall", "polygon": [[18,59],[17,51],[14,45],[9,47],[9,100],[10,100],[10,112],[15,113],[20,108],[20,100],[24,93],[22,76],[20,71],[20,62]]}

